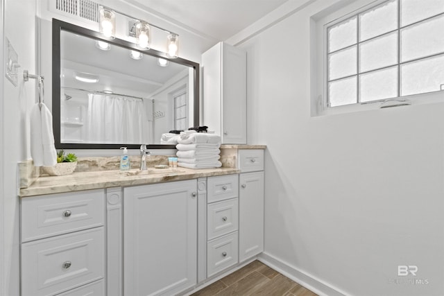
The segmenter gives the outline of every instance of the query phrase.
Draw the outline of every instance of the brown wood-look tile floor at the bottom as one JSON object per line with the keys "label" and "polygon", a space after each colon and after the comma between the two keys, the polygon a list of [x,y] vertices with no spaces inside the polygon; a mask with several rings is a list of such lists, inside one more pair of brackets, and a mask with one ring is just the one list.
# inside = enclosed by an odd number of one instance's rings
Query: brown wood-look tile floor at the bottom
{"label": "brown wood-look tile floor at the bottom", "polygon": [[318,296],[257,260],[191,296],[202,295]]}

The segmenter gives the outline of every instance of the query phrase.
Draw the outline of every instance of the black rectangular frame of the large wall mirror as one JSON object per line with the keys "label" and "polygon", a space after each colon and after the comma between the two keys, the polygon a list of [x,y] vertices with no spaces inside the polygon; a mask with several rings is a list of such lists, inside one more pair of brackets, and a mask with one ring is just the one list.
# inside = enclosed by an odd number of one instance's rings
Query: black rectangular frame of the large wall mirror
{"label": "black rectangular frame of the large wall mirror", "polygon": [[[126,49],[139,51],[146,55],[152,55],[157,58],[164,58],[170,60],[171,62],[176,62],[178,64],[183,64],[187,67],[192,67],[194,69],[194,125],[199,125],[199,71],[200,66],[196,62],[191,62],[182,58],[171,59],[167,57],[166,53],[162,51],[156,51],[150,49],[149,51],[143,51],[138,49],[136,44],[120,39],[108,40],[99,32],[91,31],[87,28],[76,26],[74,24],[69,24],[65,21],[60,21],[59,19],[53,19],[53,58],[52,58],[52,113],[53,113],[53,132],[54,132],[54,142],[56,149],[118,149],[121,146],[126,146],[128,149],[139,149],[139,145],[117,143],[117,144],[100,144],[100,143],[60,143],[60,33],[61,31],[69,31],[74,34],[83,35],[85,37],[93,37],[98,40],[103,40],[110,44],[124,47]],[[148,149],[176,149],[175,145],[162,145],[162,144],[147,144]]]}

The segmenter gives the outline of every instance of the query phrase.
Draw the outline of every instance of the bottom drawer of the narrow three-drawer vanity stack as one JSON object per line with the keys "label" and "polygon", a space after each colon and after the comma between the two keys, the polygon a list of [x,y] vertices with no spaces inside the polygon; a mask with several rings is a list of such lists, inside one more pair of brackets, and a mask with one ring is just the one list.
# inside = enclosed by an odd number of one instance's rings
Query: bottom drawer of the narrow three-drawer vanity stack
{"label": "bottom drawer of the narrow three-drawer vanity stack", "polygon": [[237,264],[237,245],[237,232],[207,243],[207,277]]}

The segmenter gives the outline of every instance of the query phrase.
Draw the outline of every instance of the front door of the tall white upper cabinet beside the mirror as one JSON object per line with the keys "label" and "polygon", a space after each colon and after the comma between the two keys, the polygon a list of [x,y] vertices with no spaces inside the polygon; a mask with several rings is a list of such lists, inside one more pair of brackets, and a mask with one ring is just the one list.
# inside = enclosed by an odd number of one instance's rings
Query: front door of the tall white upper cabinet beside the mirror
{"label": "front door of the tall white upper cabinet beside the mirror", "polygon": [[222,46],[222,143],[246,144],[246,52]]}

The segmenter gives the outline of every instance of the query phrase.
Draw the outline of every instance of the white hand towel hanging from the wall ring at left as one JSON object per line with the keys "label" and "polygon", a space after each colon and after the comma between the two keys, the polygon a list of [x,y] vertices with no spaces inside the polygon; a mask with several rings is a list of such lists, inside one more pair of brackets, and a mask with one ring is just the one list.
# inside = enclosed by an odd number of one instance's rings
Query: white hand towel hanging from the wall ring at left
{"label": "white hand towel hanging from the wall ring at left", "polygon": [[34,166],[55,166],[57,152],[54,147],[53,116],[44,103],[33,107],[30,123]]}

